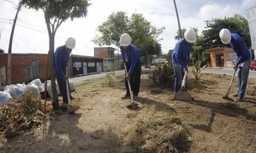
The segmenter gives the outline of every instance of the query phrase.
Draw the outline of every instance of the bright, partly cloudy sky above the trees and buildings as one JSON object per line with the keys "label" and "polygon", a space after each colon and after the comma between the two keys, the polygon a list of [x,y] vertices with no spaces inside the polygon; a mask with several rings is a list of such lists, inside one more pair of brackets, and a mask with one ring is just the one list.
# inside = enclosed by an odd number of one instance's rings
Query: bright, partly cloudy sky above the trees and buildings
{"label": "bright, partly cloudy sky above the trees and buildings", "polygon": [[[91,0],[86,18],[67,20],[60,25],[55,35],[55,48],[65,44],[66,38],[76,38],[72,54],[94,56],[91,40],[96,37],[97,27],[107,21],[112,13],[123,11],[131,17],[141,13],[155,28],[165,27],[159,35],[162,53],[175,48],[175,35],[179,30],[174,1],[171,0]],[[245,11],[256,6],[255,0],[175,0],[180,18],[180,28],[198,28],[199,34],[206,27],[206,20],[232,17],[235,13],[246,18]],[[13,19],[18,0],[0,0],[0,48],[8,53]],[[105,47],[105,46],[104,46]],[[115,46],[110,46],[116,48]],[[12,53],[47,54],[49,38],[43,11],[22,8],[13,34]]]}

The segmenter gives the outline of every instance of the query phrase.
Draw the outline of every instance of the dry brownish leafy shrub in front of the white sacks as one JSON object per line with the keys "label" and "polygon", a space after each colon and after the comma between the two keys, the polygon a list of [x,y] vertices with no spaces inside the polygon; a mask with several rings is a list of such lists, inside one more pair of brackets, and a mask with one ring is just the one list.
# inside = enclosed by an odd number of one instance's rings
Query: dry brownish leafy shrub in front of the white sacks
{"label": "dry brownish leafy shrub in front of the white sacks", "polygon": [[44,121],[44,116],[37,112],[43,109],[49,111],[51,105],[41,103],[40,97],[33,98],[31,91],[26,91],[23,95],[21,103],[15,102],[13,105],[0,106],[0,141],[6,141],[3,133],[8,127],[12,127],[14,131],[31,130],[38,128]]}

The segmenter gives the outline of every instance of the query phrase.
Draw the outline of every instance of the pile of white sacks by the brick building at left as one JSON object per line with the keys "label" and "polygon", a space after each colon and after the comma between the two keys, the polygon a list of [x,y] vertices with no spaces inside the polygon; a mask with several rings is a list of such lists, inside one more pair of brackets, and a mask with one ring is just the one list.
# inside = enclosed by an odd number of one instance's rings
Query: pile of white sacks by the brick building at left
{"label": "pile of white sacks by the brick building at left", "polygon": [[[47,80],[47,94],[50,95],[50,98],[53,98],[51,82]],[[69,79],[70,90],[75,90],[75,84]],[[60,89],[56,81],[57,94],[60,94]],[[3,91],[0,91],[0,105],[10,105],[14,100],[17,102],[22,102],[23,95],[26,91],[32,91],[32,96],[34,98],[39,97],[44,93],[44,83],[40,79],[34,79],[29,84],[11,84],[7,85]]]}

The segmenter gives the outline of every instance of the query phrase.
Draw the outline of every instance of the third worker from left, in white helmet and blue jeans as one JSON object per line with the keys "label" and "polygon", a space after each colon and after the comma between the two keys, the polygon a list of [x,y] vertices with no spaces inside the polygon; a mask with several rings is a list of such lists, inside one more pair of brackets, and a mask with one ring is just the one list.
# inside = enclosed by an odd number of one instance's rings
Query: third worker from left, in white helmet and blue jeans
{"label": "third worker from left, in white helmet and blue jeans", "polygon": [[[176,43],[171,57],[175,73],[174,94],[180,91],[185,71],[188,71],[187,64],[189,64],[191,60],[191,49],[196,42],[196,32],[193,29],[186,30],[184,36],[185,38],[180,38]],[[187,80],[185,80],[185,89],[187,90]]]}

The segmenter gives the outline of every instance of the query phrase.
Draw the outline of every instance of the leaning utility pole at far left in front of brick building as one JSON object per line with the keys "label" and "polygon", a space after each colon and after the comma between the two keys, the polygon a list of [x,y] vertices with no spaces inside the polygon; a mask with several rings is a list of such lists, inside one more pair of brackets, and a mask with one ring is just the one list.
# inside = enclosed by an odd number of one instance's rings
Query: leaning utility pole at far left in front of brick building
{"label": "leaning utility pole at far left in front of brick building", "polygon": [[21,8],[21,3],[18,4],[18,9],[15,15],[15,18],[13,20],[13,28],[12,28],[12,32],[11,32],[11,36],[10,36],[10,40],[9,40],[9,48],[8,48],[8,74],[7,74],[7,83],[8,84],[12,84],[12,46],[13,46],[13,33],[14,33],[14,28],[16,25],[16,21],[18,18],[18,12]]}

